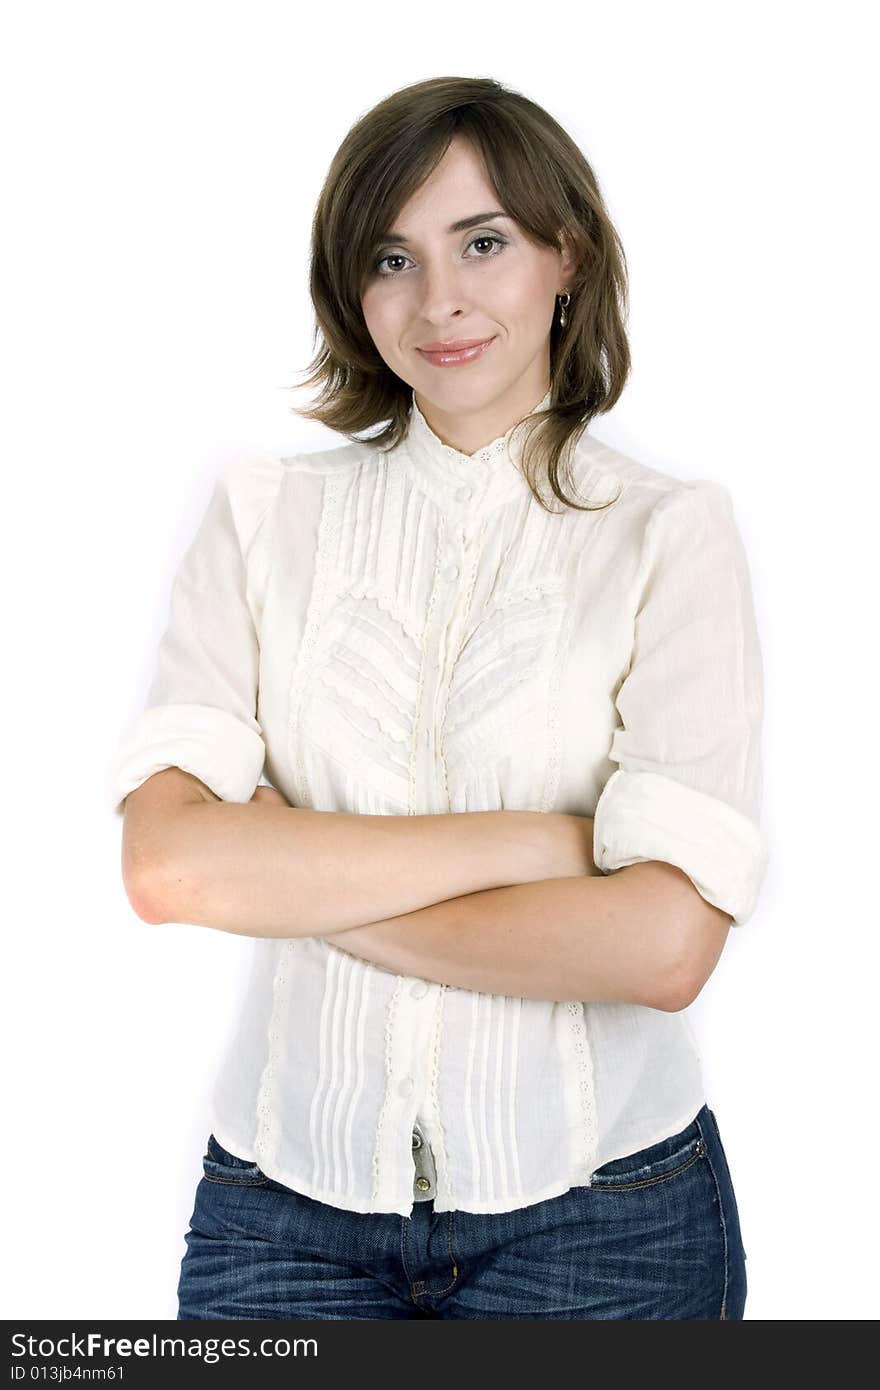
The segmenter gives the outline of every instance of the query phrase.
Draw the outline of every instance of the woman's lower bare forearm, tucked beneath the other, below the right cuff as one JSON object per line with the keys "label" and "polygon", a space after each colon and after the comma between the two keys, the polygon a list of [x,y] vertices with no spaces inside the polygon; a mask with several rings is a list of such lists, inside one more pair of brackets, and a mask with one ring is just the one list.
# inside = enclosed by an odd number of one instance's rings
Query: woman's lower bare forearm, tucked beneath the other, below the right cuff
{"label": "woman's lower bare forearm, tucked beneath the other, below the right cuff", "polygon": [[395,974],[528,999],[681,1008],[692,888],[669,865],[470,894],[339,931],[332,945]]}

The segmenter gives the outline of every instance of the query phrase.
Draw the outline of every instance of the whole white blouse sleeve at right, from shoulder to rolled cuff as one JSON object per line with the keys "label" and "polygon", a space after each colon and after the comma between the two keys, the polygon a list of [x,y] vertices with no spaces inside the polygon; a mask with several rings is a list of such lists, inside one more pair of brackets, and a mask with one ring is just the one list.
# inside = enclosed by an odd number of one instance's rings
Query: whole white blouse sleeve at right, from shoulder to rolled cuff
{"label": "whole white blouse sleeve at right, from shoulder to rolled cuff", "polygon": [[742,926],[767,863],[763,670],[748,563],[717,482],[683,482],[651,512],[616,705],[617,769],[595,809],[596,867],[676,865]]}

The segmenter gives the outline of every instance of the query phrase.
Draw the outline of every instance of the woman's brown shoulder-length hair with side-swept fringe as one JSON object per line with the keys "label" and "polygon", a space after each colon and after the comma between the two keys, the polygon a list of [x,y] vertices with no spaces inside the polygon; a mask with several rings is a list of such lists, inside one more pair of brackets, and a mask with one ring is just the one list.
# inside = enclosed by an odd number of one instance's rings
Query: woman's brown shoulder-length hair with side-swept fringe
{"label": "woman's brown shoulder-length hair with side-swept fringe", "polygon": [[293,413],[352,441],[385,421],[368,436],[380,449],[405,438],[412,388],[380,356],[361,292],[375,247],[455,136],[482,154],[499,206],[527,236],[557,252],[560,232],[570,239],[577,271],[567,286],[567,324],[560,328],[553,316],[551,328],[551,409],[520,423],[521,468],[545,510],[555,509],[539,493],[538,474],[546,474],[566,506],[601,510],[566,496],[559,471],[563,467],[566,485],[573,485],[577,439],[594,416],[612,409],[630,371],[623,246],[571,136],[542,107],[492,78],[414,82],[374,106],[345,136],[311,225],[316,352],[302,386],[318,386],[320,396]]}

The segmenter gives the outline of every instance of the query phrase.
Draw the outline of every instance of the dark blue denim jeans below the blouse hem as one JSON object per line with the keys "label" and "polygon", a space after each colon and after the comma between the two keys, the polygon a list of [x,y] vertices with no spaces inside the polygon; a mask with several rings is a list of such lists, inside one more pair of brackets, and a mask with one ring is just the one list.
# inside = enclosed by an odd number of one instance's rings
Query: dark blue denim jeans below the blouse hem
{"label": "dark blue denim jeans below the blouse hem", "polygon": [[708,1105],[591,1187],[513,1212],[349,1212],[209,1137],[178,1319],[741,1319],[745,1251]]}

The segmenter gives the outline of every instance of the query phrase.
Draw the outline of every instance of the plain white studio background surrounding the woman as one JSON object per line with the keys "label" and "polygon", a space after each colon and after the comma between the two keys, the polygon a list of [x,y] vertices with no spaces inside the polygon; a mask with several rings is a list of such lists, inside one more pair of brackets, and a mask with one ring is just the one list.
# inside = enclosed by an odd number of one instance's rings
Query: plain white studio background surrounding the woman
{"label": "plain white studio background surrounding the woman", "polygon": [[4,1316],[175,1316],[250,942],[135,916],[106,769],[218,468],[242,445],[343,442],[288,389],[329,160],[381,97],[449,74],[544,104],[598,174],[634,371],[594,435],[731,489],[772,860],[690,1017],[747,1318],[877,1315],[870,11],[7,10]]}

